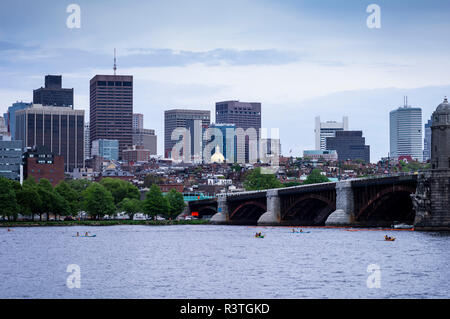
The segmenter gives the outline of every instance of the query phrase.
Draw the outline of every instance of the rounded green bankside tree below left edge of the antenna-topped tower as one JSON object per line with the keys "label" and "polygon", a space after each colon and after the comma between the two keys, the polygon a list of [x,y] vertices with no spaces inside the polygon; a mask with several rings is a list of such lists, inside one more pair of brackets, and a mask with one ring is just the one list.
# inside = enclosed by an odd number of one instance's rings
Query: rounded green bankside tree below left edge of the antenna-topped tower
{"label": "rounded green bankside tree below left edge of the antenna-topped tower", "polygon": [[111,192],[99,183],[92,183],[83,192],[84,210],[96,219],[104,215],[113,215],[116,207]]}

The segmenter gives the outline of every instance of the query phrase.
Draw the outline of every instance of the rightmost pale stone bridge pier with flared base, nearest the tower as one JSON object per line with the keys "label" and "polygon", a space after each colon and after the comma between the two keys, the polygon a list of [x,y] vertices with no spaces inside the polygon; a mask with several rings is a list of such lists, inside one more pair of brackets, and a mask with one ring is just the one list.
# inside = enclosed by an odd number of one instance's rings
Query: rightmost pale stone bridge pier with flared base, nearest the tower
{"label": "rightmost pale stone bridge pier with flared base, nearest the tower", "polygon": [[326,226],[350,226],[353,224],[354,196],[352,183],[336,183],[336,210],[328,216]]}

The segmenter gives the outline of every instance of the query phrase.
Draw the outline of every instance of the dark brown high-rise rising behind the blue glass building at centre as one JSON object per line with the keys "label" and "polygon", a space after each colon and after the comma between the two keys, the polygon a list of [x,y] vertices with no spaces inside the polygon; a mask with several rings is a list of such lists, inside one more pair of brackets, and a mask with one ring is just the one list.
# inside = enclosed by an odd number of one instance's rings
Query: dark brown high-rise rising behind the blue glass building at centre
{"label": "dark brown high-rise rising behind the blue glass building at centre", "polygon": [[[256,148],[256,156],[258,157],[258,145],[261,130],[261,103],[259,102],[239,102],[239,101],[223,101],[216,103],[216,123],[217,124],[234,124],[236,126],[236,132],[238,129],[247,131],[248,129],[254,129],[256,132],[256,140],[252,140],[250,136],[245,136],[245,148],[239,147],[239,141],[237,141],[236,156],[239,159],[244,159],[248,163],[250,160],[256,160],[251,158],[250,143]],[[252,138],[253,139],[253,138]],[[239,140],[239,139],[238,139]],[[244,152],[244,153],[242,153]]]}

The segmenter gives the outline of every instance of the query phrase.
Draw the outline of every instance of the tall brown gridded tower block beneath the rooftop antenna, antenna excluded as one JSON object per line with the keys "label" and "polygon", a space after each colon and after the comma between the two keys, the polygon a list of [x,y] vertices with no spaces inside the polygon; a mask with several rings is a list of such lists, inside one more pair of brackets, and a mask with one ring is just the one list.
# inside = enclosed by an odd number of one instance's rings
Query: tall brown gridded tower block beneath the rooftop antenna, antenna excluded
{"label": "tall brown gridded tower block beneath the rooftop antenna, antenna excluded", "polygon": [[118,140],[121,157],[133,144],[133,76],[96,75],[90,92],[91,146],[98,139]]}

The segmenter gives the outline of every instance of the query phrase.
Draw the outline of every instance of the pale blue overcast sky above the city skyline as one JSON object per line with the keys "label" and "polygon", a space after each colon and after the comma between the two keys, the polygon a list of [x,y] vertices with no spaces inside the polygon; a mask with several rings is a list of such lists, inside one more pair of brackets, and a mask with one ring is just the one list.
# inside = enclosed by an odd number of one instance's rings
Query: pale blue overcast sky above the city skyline
{"label": "pale blue overcast sky above the city skyline", "polygon": [[[79,29],[66,25],[71,3]],[[379,29],[367,27],[372,3]],[[160,154],[164,110],[213,115],[232,99],[262,103],[284,155],[314,149],[315,116],[348,116],[374,162],[389,151],[389,111],[404,95],[423,122],[450,96],[449,34],[450,1],[437,0],[2,0],[0,114],[61,74],[88,119],[89,80],[112,74],[117,48],[117,73],[134,76],[134,112],[156,129]]]}

